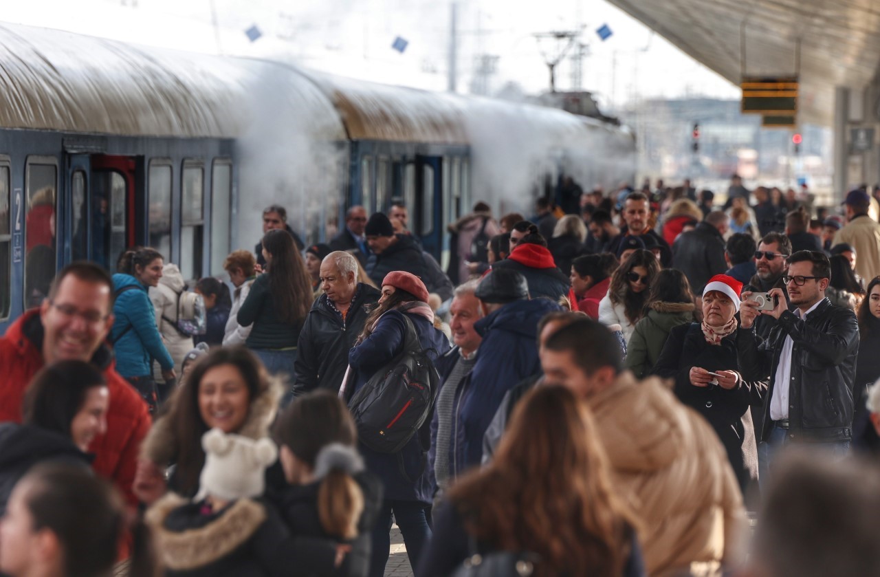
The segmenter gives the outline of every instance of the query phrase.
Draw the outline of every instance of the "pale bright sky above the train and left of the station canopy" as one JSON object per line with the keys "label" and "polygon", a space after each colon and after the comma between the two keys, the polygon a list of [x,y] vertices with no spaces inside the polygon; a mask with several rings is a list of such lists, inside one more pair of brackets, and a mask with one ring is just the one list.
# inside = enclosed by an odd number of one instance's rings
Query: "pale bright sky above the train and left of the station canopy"
{"label": "pale bright sky above the train and left of the station canopy", "polygon": [[[605,0],[543,0],[513,8],[505,0],[457,1],[457,88],[471,92],[488,55],[489,93],[513,83],[548,88],[546,58],[564,42],[535,33],[580,30],[568,55],[583,52],[581,86],[605,109],[639,98],[737,99],[737,87],[684,55]],[[293,59],[341,76],[445,90],[451,3],[441,0],[31,0],[3,2],[0,20],[59,28],[149,46],[212,54]],[[260,38],[252,41],[252,26]],[[607,26],[605,41],[597,30]],[[398,38],[407,42],[400,52]],[[573,87],[570,58],[557,67],[559,90]]]}

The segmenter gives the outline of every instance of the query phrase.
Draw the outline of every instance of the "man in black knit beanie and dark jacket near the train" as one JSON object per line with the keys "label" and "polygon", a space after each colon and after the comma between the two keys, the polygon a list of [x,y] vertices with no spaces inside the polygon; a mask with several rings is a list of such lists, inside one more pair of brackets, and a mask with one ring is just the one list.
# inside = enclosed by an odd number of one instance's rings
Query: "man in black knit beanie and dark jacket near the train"
{"label": "man in black knit beanie and dark jacket near the train", "polygon": [[428,267],[422,257],[422,248],[408,234],[395,234],[391,220],[381,212],[370,217],[364,229],[367,244],[373,255],[367,262],[367,274],[376,285],[382,285],[382,279],[389,272],[403,270],[414,274],[424,282],[427,279]]}

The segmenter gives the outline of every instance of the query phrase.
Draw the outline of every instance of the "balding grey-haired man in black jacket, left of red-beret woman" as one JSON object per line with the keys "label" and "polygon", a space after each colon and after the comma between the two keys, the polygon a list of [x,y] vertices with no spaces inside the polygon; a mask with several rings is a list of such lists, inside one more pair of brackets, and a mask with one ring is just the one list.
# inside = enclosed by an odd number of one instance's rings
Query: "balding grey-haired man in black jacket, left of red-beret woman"
{"label": "balding grey-haired man in black jacket, left of red-beret woman", "polygon": [[317,388],[338,391],[348,366],[348,351],[363,331],[379,292],[357,282],[357,259],[334,251],[321,262],[319,283],[324,293],[305,317],[294,364],[294,396]]}

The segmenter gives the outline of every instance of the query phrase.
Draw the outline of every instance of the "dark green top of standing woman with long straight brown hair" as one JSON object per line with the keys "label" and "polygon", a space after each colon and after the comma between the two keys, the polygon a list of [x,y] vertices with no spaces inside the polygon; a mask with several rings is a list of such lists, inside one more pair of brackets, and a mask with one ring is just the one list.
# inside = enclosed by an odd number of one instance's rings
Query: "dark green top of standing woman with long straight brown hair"
{"label": "dark green top of standing woman with long straight brown hair", "polygon": [[269,275],[264,272],[251,285],[245,302],[238,309],[238,324],[253,324],[245,343],[249,349],[288,349],[297,346],[303,322],[282,321],[275,308],[275,298],[269,291]]}

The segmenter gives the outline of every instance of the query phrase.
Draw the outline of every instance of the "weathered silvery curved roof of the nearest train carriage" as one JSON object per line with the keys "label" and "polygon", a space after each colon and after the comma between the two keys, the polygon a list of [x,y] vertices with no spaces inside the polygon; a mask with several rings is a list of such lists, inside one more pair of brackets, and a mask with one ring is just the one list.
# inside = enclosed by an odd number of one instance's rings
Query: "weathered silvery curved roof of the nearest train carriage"
{"label": "weathered silvery curved roof of the nearest train carriage", "polygon": [[317,86],[278,68],[2,23],[0,127],[235,138],[253,116],[266,114],[260,100],[271,92],[274,105],[304,111],[311,123],[304,129],[344,138],[333,105]]}

